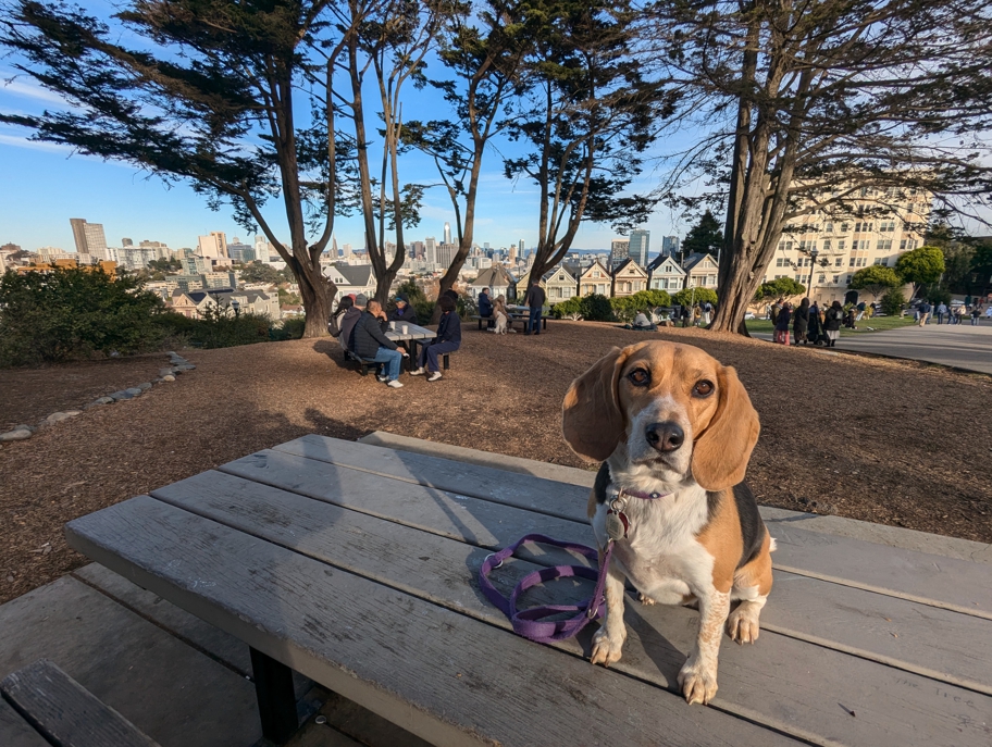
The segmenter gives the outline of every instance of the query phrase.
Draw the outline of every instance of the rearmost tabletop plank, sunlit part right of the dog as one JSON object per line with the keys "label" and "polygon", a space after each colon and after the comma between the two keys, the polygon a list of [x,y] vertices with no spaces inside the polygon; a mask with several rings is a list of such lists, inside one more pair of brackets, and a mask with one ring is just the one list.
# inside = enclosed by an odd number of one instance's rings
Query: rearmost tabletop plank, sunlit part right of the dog
{"label": "rearmost tabletop plank, sunlit part right of the dog", "polygon": [[875,545],[782,524],[769,532],[777,569],[992,620],[984,563]]}

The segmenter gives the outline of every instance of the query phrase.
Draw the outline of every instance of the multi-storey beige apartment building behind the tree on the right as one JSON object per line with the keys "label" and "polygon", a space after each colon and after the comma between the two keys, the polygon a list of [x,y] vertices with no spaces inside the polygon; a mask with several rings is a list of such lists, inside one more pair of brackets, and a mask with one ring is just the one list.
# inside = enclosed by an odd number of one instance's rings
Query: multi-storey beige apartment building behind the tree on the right
{"label": "multi-storey beige apartment building behind the tree on the right", "polygon": [[900,254],[922,246],[931,202],[922,189],[863,187],[848,212],[828,208],[796,217],[786,224],[761,282],[792,277],[811,300],[844,302],[855,272],[871,264],[894,267]]}

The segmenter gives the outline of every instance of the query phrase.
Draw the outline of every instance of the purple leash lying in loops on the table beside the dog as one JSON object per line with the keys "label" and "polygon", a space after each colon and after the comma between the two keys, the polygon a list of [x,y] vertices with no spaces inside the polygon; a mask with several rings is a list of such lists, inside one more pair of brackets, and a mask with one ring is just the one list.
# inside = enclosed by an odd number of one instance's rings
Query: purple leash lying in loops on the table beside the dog
{"label": "purple leash lying in loops on the table beside the dog", "polygon": [[[533,571],[521,578],[513,588],[513,593],[507,598],[499,593],[499,589],[493,586],[493,582],[489,581],[489,573],[503,565],[503,562],[512,557],[521,545],[529,541],[540,543],[542,545],[553,545],[566,550],[572,550],[585,556],[590,560],[598,561],[599,557],[597,550],[586,545],[562,541],[543,534],[528,534],[512,545],[503,548],[498,552],[494,552],[485,559],[482,563],[482,568],[479,569],[479,585],[482,588],[482,593],[485,594],[486,598],[499,608],[499,610],[509,619],[510,624],[513,626],[513,632],[517,633],[517,635],[542,644],[571,638],[585,627],[591,620],[598,620],[604,614],[606,600],[603,590],[606,585],[609,559],[613,552],[613,543],[610,540],[607,545],[603,558],[603,565],[599,568],[598,572],[591,568],[586,568],[585,565],[555,565],[553,568],[544,568],[540,571]],[[517,600],[520,598],[520,595],[532,586],[556,578],[569,577],[590,578],[595,581],[596,588],[593,592],[593,596],[581,605],[543,605],[523,611],[517,609]],[[545,618],[549,618],[553,614],[560,614],[561,612],[575,612],[576,614],[566,620],[545,620]]]}

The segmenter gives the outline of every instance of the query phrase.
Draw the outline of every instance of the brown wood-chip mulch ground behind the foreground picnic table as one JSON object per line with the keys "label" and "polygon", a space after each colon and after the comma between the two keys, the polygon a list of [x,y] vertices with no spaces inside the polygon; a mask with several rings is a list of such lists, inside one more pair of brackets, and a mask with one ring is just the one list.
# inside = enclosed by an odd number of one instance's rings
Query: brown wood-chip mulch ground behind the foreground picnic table
{"label": "brown wood-chip mulch ground behind the foreground picnic table", "polygon": [[[748,469],[760,502],[992,541],[992,378],[827,356],[698,329],[658,333],[736,366],[761,416]],[[197,370],[0,447],[0,602],[84,564],[62,525],[308,433],[371,431],[582,465],[560,434],[572,378],[615,345],[612,325],[553,322],[536,337],[467,325],[444,379],[402,389],[346,366],[336,340],[183,351]],[[164,356],[0,372],[0,422],[148,381]]]}

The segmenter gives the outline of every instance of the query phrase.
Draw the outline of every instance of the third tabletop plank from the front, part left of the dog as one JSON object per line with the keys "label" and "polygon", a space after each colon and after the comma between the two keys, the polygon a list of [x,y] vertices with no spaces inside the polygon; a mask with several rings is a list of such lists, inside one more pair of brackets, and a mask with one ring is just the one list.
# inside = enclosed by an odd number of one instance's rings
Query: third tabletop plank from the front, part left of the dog
{"label": "third tabletop plank from the front, part left of the dog", "polygon": [[594,543],[588,520],[576,522],[540,515],[282,451],[259,451],[219,469],[263,485],[494,550],[538,531],[557,539],[585,545]]}

